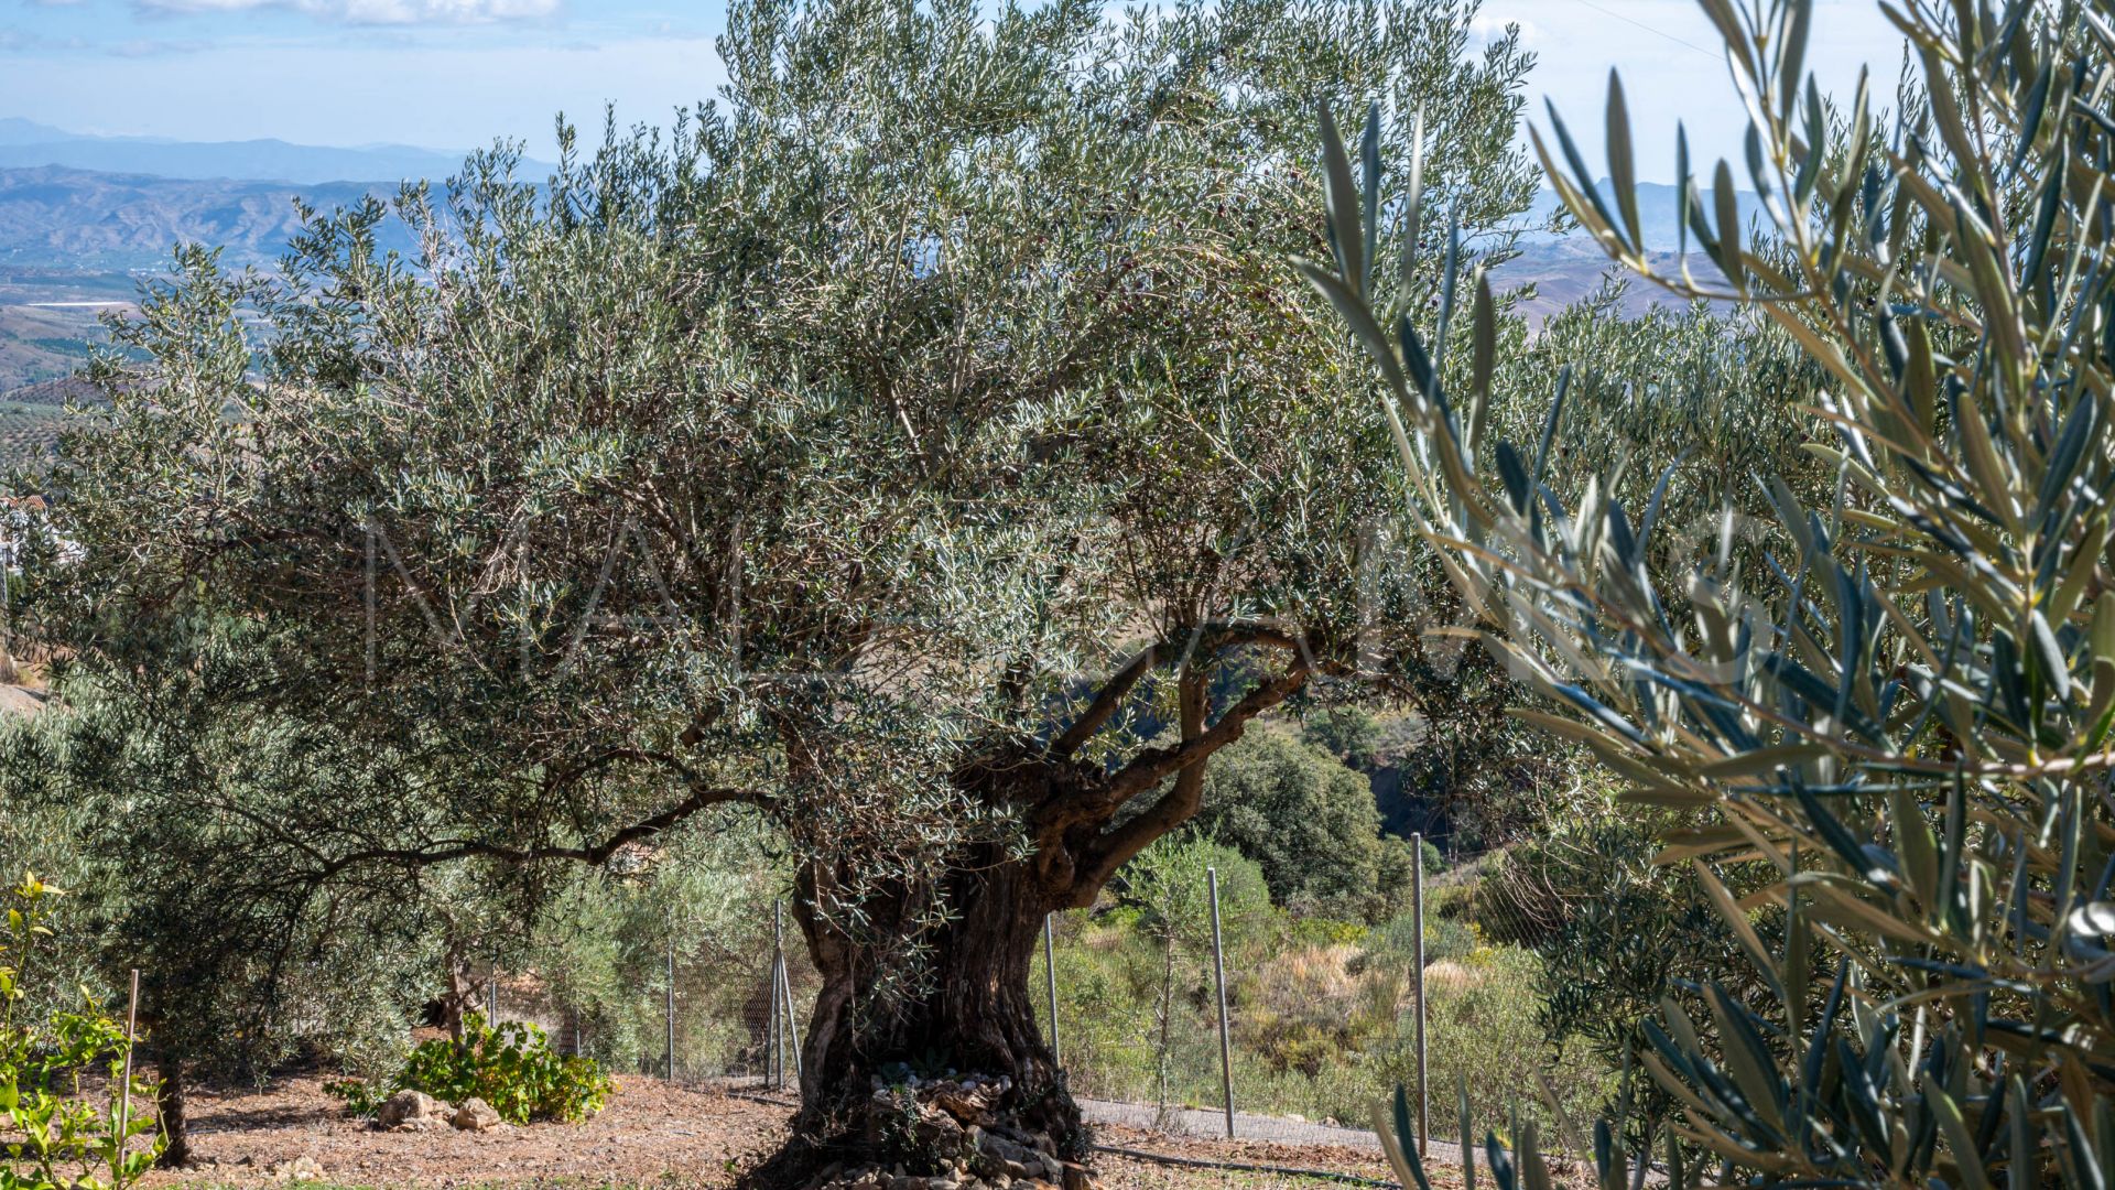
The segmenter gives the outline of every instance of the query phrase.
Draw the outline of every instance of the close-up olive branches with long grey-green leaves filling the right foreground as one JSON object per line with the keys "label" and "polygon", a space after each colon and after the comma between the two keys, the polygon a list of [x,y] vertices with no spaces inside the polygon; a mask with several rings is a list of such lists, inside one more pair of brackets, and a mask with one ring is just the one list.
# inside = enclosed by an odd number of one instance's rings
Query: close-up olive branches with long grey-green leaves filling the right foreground
{"label": "close-up olive branches with long grey-green leaves filling the right foreground", "polygon": [[[1660,546],[1658,495],[1637,515],[1612,476],[1487,443],[1491,368],[1426,364],[1415,320],[1381,332],[1360,239],[1377,159],[1362,212],[1332,129],[1337,258],[1309,275],[1379,364],[1417,531],[1557,711],[1523,714],[1633,800],[1709,813],[1660,862],[1692,866],[1747,970],[1688,972],[1700,1018],[1665,1002],[1643,1025],[1673,1133],[1726,1184],[2098,1186],[2115,1158],[2115,34],[2083,4],[1889,6],[1923,100],[1887,129],[1863,87],[1829,121],[1802,70],[1813,0],[1703,6],[1777,244],[1739,224],[1726,163],[1715,210],[1700,201],[1684,144],[1686,222],[1722,284],[1656,273],[1616,83],[1614,195],[1555,114],[1563,169],[1548,144],[1544,161],[1612,256],[1800,343],[1825,502],[1766,476],[1770,523],[1728,510],[1715,540]],[[1474,335],[1489,318],[1478,301]],[[1736,900],[1732,875],[1758,870]],[[1768,995],[1743,1002],[1739,978]],[[1514,1143],[1519,1160],[1487,1146],[1500,1184],[1538,1184],[1535,1137]],[[1610,1131],[1597,1148],[1603,1184],[1626,1182]],[[1669,1152],[1669,1179],[1698,1182]]]}

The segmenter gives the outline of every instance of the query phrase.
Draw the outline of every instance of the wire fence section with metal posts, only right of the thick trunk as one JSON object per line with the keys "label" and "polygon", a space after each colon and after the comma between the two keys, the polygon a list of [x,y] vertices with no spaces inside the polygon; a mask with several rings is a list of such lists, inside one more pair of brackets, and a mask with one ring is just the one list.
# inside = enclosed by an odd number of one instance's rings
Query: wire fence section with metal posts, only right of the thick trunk
{"label": "wire fence section with metal posts, only right of the thick trunk", "polygon": [[1576,1146],[1616,1076],[1544,1031],[1535,944],[1561,906],[1502,855],[1417,883],[1371,927],[1222,915],[1216,951],[1121,913],[1058,915],[1034,980],[1074,1095],[1140,1129],[1373,1143],[1373,1103],[1400,1084],[1434,1141],[1461,1139],[1466,1095],[1474,1137],[1533,1120],[1546,1148]]}

